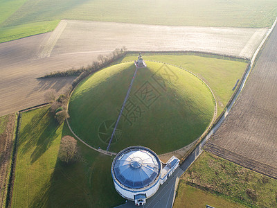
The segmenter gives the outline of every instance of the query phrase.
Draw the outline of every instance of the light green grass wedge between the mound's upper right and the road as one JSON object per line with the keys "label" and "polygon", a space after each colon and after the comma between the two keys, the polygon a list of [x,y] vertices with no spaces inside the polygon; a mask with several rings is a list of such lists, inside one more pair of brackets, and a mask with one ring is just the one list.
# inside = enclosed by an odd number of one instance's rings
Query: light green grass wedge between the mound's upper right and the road
{"label": "light green grass wedge between the mound's upper right and the road", "polygon": [[[247,63],[197,55],[150,55],[143,54],[145,60],[155,60],[184,67],[202,78],[213,90],[217,100],[217,116],[233,94],[233,87],[242,77]],[[136,60],[135,55],[127,55],[122,61]]]}

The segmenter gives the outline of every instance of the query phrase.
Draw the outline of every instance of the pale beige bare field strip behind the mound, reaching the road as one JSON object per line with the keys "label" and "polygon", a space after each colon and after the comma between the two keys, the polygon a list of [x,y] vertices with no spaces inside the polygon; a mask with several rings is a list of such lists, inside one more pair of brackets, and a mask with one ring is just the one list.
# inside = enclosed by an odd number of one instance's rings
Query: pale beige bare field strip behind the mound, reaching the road
{"label": "pale beige bare field strip behind the mound, reaching the road", "polygon": [[[126,46],[129,51],[206,51],[251,58],[267,28],[157,26],[62,20],[44,53],[98,53]],[[57,35],[58,34],[58,35]],[[51,44],[54,46],[51,47]],[[53,49],[53,51],[51,51]],[[41,57],[46,55],[39,54]]]}

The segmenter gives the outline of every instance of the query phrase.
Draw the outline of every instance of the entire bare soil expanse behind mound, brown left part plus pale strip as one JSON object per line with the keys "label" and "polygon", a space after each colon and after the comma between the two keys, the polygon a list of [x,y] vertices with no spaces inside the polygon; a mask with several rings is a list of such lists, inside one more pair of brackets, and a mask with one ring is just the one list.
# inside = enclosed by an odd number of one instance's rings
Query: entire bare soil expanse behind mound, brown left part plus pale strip
{"label": "entire bare soil expanse behind mound, brown left part plus pale strip", "polygon": [[55,31],[0,44],[0,116],[44,103],[49,90],[62,94],[74,78],[37,80],[51,71],[82,67],[116,48],[195,50],[251,57],[266,28],[151,26],[61,21]]}

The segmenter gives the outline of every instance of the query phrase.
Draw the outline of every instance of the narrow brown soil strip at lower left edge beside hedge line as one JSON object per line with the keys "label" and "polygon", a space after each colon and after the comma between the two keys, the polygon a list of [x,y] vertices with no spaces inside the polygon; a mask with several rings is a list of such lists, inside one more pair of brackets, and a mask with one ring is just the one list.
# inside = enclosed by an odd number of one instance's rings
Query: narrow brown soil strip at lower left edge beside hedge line
{"label": "narrow brown soil strip at lower left edge beside hedge line", "polygon": [[6,130],[0,135],[0,207],[5,207],[8,175],[10,173],[10,157],[13,148],[13,133],[15,128],[15,114],[8,115]]}

